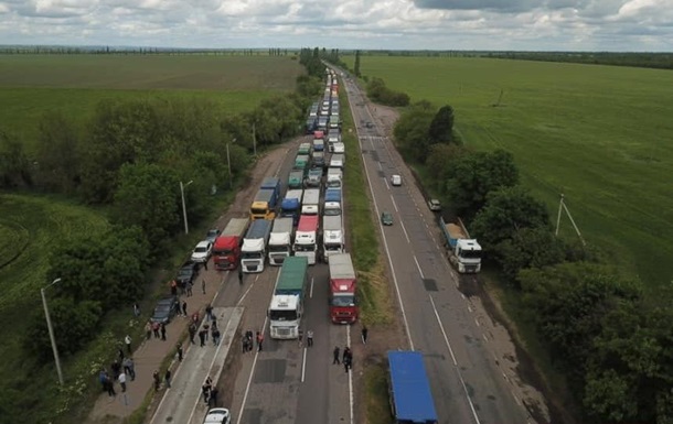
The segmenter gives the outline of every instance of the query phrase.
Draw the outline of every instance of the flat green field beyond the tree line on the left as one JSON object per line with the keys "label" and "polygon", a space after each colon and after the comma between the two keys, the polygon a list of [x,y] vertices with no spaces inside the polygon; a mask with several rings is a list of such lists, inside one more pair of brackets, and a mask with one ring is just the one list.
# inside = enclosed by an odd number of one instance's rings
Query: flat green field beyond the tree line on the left
{"label": "flat green field beyond the tree line on the left", "polygon": [[223,112],[291,91],[289,57],[222,55],[0,55],[0,128],[29,145],[40,117],[61,110],[84,124],[103,99],[206,98]]}

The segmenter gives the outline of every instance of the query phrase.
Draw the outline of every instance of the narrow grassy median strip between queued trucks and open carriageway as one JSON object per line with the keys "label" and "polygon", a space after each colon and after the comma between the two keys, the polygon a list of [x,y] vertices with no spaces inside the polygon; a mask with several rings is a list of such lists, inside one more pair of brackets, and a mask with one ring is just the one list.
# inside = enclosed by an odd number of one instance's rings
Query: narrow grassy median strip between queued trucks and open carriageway
{"label": "narrow grassy median strip between queued trucks and open carriageway", "polygon": [[[385,267],[380,254],[376,226],[370,208],[367,182],[360,154],[355,126],[344,89],[339,96],[341,104],[342,141],[349,153],[344,170],[346,227],[350,251],[357,270],[357,296],[361,319],[367,326],[388,325],[393,322],[393,301],[389,296]],[[383,359],[383,358],[381,358]],[[368,424],[389,424],[387,367],[385,360],[367,361],[364,371],[365,416]]]}

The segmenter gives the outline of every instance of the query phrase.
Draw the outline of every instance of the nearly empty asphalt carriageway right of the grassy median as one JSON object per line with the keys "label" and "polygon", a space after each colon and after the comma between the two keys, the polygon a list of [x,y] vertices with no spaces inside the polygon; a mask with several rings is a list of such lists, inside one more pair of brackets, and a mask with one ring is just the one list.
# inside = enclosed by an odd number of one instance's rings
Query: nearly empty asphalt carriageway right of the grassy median
{"label": "nearly empty asphalt carriageway right of the grassy median", "polygon": [[[377,216],[385,210],[394,217],[392,227],[381,227],[384,249],[409,347],[424,354],[439,422],[530,422],[458,291],[457,275],[434,236],[437,224],[420,191],[410,177],[405,178],[408,170],[380,133],[359,88],[349,83],[346,91]],[[389,185],[393,174],[403,175],[402,186]]]}

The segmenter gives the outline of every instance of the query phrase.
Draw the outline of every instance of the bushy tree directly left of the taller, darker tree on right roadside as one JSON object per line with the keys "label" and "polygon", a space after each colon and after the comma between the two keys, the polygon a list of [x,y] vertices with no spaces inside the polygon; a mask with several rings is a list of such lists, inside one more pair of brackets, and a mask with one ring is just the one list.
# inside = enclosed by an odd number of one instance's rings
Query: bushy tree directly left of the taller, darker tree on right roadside
{"label": "bushy tree directly left of the taller, darker tree on right roadside", "polygon": [[419,101],[399,116],[393,133],[402,154],[407,160],[425,162],[430,145],[427,128],[434,115],[432,105]]}

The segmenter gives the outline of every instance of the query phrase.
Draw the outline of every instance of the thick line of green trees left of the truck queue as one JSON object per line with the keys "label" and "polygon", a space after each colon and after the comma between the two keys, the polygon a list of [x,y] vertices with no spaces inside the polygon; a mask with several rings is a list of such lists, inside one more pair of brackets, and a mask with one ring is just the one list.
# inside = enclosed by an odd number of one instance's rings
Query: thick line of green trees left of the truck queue
{"label": "thick line of green trees left of the truck queue", "polygon": [[[188,219],[199,224],[215,191],[245,178],[255,152],[302,132],[322,84],[299,76],[293,93],[237,113],[222,113],[204,99],[102,100],[83,130],[52,111],[35,122],[30,154],[24,140],[0,129],[0,188],[78,199],[104,210],[111,224],[49,252],[46,282],[62,279],[50,301],[62,355],[86,348],[107,313],[142,298],[152,264],[182,230],[180,183],[192,182],[184,189]],[[24,351],[49,360],[42,311],[28,319]]]}

